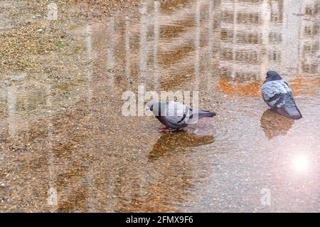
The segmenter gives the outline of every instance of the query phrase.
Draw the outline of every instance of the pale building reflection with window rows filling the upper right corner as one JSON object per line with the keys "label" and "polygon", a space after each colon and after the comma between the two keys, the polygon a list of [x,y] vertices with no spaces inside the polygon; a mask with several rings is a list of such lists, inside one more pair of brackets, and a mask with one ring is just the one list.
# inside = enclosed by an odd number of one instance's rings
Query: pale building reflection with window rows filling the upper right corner
{"label": "pale building reflection with window rows filling the upper right corner", "polygon": [[[233,78],[317,73],[319,21],[316,1],[222,1],[221,68]],[[302,18],[302,16],[304,16]]]}

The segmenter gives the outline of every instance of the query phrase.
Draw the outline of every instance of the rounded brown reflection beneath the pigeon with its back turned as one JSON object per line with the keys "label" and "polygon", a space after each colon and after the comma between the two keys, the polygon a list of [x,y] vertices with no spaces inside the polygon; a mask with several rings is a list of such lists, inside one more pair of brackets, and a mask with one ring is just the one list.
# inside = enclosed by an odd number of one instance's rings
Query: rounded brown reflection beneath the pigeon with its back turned
{"label": "rounded brown reflection beneath the pigeon with its back turned", "polygon": [[294,125],[294,120],[278,115],[271,109],[266,110],[260,119],[260,126],[268,139],[286,135],[292,125]]}

